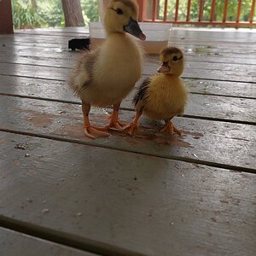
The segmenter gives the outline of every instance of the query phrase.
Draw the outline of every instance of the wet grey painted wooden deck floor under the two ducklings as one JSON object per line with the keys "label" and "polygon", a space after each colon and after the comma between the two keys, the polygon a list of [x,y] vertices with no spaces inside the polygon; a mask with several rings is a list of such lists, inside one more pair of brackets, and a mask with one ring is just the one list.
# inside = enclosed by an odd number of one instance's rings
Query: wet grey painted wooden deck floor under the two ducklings
{"label": "wet grey painted wooden deck floor under the two ducklings", "polygon": [[[256,32],[174,29],[183,136],[143,118],[143,134],[96,140],[65,82],[67,41],[86,33],[0,35],[0,255],[256,255]],[[109,111],[92,110],[97,125]]]}

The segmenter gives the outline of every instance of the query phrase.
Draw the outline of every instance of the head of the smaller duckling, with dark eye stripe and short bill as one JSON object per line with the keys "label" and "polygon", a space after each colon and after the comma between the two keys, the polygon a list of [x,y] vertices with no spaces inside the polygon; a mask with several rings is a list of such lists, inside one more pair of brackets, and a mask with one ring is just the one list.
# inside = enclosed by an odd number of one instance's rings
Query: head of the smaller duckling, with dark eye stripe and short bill
{"label": "head of the smaller duckling, with dark eye stripe and short bill", "polygon": [[158,73],[179,77],[183,73],[183,52],[176,47],[167,47],[160,52],[160,67]]}

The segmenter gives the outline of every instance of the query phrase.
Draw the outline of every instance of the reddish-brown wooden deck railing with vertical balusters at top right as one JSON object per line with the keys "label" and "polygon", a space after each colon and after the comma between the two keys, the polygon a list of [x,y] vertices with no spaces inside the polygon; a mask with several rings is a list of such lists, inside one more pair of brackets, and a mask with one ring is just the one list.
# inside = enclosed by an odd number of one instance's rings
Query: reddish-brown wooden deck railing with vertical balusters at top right
{"label": "reddish-brown wooden deck railing with vertical balusters at top right", "polygon": [[[230,0],[137,0],[137,2],[140,6],[139,20],[144,22],[172,22],[202,26],[256,26],[256,0],[247,2],[247,10],[243,12],[242,8],[245,6],[243,0],[236,0],[236,6],[234,6],[234,0],[232,6]],[[231,8],[233,13],[235,8],[235,15],[229,14]],[[246,15],[241,15],[245,12]]]}

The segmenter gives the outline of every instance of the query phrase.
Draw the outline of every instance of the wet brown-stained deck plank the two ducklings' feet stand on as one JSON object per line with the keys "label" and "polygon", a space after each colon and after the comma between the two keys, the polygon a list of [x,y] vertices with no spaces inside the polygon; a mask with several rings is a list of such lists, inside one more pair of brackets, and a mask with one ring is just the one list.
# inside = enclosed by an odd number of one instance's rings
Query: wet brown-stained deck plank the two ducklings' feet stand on
{"label": "wet brown-stained deck plank the two ducklings' feet stand on", "polygon": [[[166,137],[158,132],[162,124],[142,118],[144,131],[134,137],[113,131],[111,137],[90,140],[84,137],[82,113],[78,105],[0,96],[0,109],[2,131],[55,137],[103,148],[255,172],[255,125],[175,118],[174,124],[183,131],[183,136]],[[126,122],[133,117],[132,111],[120,113],[120,119]],[[108,110],[92,109],[90,118],[93,124],[105,125]]]}

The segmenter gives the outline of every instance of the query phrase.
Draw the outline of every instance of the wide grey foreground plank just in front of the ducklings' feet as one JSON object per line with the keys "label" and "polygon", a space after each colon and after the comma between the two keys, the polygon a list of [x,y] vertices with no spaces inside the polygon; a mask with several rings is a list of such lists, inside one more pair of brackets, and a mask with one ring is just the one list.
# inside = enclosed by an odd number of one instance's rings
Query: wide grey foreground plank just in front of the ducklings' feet
{"label": "wide grey foreground plank just in front of the ducklings' feet", "polygon": [[0,152],[0,219],[128,255],[256,253],[253,174],[9,133]]}

